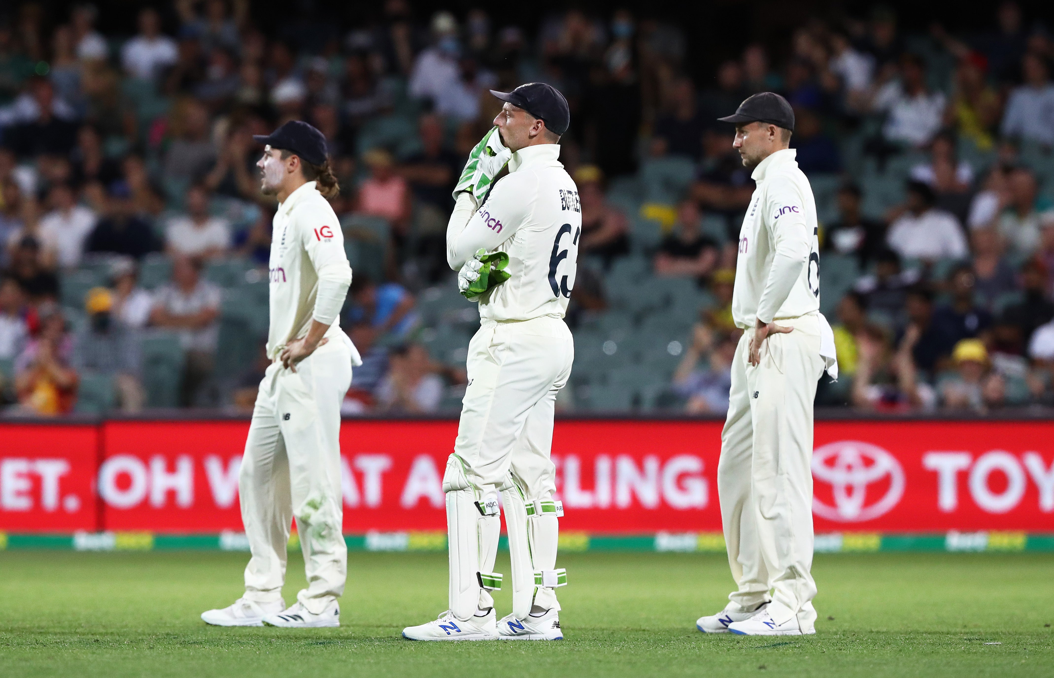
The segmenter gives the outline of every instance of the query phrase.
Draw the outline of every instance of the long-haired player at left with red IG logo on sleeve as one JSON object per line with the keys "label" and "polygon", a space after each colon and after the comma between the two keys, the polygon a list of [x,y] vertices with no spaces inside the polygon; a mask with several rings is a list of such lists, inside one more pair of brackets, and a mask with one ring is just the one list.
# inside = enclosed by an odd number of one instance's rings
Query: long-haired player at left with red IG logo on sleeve
{"label": "long-haired player at left with red IG logo on sleeve", "polygon": [[[338,315],[351,283],[344,236],[327,197],[336,181],[325,138],[294,121],[268,137],[257,163],[276,195],[267,355],[238,478],[252,557],[246,593],[201,615],[210,624],[338,626],[348,551],[341,530],[340,402],[362,364]],[[312,179],[312,180],[308,180]],[[296,519],[308,587],[281,598],[290,522]]]}

